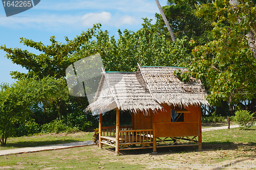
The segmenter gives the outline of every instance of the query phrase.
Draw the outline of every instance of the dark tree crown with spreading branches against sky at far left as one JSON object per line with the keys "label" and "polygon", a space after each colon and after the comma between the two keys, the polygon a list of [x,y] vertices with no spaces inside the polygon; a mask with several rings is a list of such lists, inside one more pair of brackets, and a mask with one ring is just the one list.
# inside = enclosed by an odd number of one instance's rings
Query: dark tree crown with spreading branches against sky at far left
{"label": "dark tree crown with spreading branches against sky at far left", "polygon": [[72,54],[76,52],[84,42],[91,39],[100,26],[101,25],[94,25],[92,29],[89,29],[87,32],[82,32],[81,35],[73,40],[69,40],[68,37],[65,37],[66,43],[56,41],[55,36],[50,38],[51,45],[44,45],[41,42],[20,38],[20,43],[35,48],[41,52],[39,55],[29,53],[27,50],[21,50],[20,48],[7,48],[5,45],[1,45],[0,50],[4,50],[7,53],[6,57],[12,60],[13,63],[28,69],[28,74],[26,75],[12,71],[11,75],[15,79],[33,76],[37,76],[40,79],[46,76],[59,79],[65,77],[65,70],[70,64],[79,60],[72,58]]}

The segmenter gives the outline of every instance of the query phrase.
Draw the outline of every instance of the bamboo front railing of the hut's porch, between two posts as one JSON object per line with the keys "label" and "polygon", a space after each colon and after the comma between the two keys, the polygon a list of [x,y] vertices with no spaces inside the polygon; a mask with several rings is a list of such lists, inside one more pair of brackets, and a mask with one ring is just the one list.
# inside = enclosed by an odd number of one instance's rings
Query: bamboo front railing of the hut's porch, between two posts
{"label": "bamboo front railing of the hut's porch, between two posts", "polygon": [[153,141],[153,129],[122,130],[119,132],[120,143],[140,144],[152,143]]}

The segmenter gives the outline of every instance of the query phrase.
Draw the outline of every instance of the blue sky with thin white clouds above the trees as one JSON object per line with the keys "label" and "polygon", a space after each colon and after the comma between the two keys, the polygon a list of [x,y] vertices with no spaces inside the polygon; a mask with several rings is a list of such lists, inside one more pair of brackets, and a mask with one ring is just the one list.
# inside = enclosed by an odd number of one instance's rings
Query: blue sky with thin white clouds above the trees
{"label": "blue sky with thin white clouds above the trees", "polygon": [[[161,6],[167,0],[159,0]],[[39,4],[22,13],[6,17],[4,6],[0,4],[0,45],[8,48],[22,48],[40,54],[34,48],[19,43],[21,37],[50,45],[50,37],[65,42],[101,23],[101,30],[108,30],[110,36],[118,38],[118,29],[138,31],[141,18],[147,17],[155,22],[155,13],[160,13],[154,0],[41,0]],[[13,64],[0,50],[0,83],[15,82],[10,71],[27,72],[25,68]]]}

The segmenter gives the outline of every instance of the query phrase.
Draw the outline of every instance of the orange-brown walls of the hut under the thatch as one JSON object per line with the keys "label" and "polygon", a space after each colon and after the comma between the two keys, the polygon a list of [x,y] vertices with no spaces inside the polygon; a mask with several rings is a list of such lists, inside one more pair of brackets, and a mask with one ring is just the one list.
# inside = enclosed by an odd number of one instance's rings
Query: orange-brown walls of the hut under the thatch
{"label": "orange-brown walls of the hut under the thatch", "polygon": [[[184,113],[184,122],[172,122],[170,118],[170,106],[164,106],[164,111],[156,114],[157,137],[198,136],[200,106],[189,106],[189,113]],[[151,112],[150,116],[144,116],[142,112],[133,114],[133,129],[153,129]]]}

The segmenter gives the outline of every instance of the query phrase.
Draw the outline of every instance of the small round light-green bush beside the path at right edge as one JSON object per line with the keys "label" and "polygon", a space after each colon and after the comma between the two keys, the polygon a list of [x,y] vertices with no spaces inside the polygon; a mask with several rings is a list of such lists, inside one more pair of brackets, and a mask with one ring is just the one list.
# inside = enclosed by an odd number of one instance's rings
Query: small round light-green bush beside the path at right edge
{"label": "small round light-green bush beside the path at right edge", "polygon": [[238,123],[240,129],[249,129],[255,124],[255,121],[252,119],[253,114],[250,114],[247,110],[238,110],[234,113],[232,120]]}

